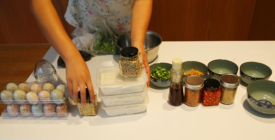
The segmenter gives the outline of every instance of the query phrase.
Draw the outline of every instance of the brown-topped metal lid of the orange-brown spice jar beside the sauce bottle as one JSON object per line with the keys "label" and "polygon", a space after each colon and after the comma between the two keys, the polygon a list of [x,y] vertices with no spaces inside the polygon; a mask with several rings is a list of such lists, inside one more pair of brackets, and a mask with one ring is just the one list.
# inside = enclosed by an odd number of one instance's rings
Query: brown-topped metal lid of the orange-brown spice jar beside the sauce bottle
{"label": "brown-topped metal lid of the orange-brown spice jar beside the sauce bottle", "polygon": [[203,87],[204,80],[200,76],[189,75],[184,79],[184,86],[190,90],[199,90]]}

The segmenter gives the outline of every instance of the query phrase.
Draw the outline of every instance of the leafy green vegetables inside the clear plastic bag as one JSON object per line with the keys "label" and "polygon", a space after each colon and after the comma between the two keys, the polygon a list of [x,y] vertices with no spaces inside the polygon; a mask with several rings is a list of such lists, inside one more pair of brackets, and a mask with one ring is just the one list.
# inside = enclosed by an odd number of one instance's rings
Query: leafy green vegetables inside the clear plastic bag
{"label": "leafy green vegetables inside the clear plastic bag", "polygon": [[94,42],[94,50],[100,53],[111,53],[118,55],[120,53],[119,49],[116,47],[116,37],[112,34],[102,34],[97,32],[97,38]]}

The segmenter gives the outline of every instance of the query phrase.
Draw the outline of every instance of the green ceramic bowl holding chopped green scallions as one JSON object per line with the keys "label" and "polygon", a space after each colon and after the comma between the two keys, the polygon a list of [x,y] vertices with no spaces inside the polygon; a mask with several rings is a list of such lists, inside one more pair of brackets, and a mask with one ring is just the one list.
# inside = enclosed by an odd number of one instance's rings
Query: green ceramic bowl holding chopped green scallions
{"label": "green ceramic bowl holding chopped green scallions", "polygon": [[[161,68],[165,68],[166,71],[170,71],[170,69],[172,68],[172,64],[169,63],[156,63],[150,66],[150,70],[152,71],[153,69],[157,68],[157,67],[161,67]],[[170,86],[170,78],[169,79],[158,79],[158,78],[154,78],[152,76],[150,76],[150,81],[153,85],[157,86],[157,87],[168,87]]]}

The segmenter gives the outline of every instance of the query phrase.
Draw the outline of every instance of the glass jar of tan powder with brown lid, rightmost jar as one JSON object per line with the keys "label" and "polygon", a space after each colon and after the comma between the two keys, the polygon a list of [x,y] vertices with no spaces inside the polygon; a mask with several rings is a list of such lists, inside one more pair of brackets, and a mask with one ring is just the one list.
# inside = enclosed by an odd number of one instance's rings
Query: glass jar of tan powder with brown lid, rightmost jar
{"label": "glass jar of tan powder with brown lid, rightmost jar", "polygon": [[221,100],[223,104],[232,104],[235,100],[240,77],[235,74],[223,74],[220,79]]}

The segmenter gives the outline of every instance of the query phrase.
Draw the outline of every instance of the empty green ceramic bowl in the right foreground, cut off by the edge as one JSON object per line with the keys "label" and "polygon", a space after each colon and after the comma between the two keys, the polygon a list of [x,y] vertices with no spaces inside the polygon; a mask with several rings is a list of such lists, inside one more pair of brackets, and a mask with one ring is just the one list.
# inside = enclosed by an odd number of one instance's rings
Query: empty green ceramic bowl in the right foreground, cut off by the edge
{"label": "empty green ceramic bowl in the right foreground, cut off by the edge", "polygon": [[246,97],[248,104],[264,114],[275,114],[275,82],[257,80],[247,86]]}

